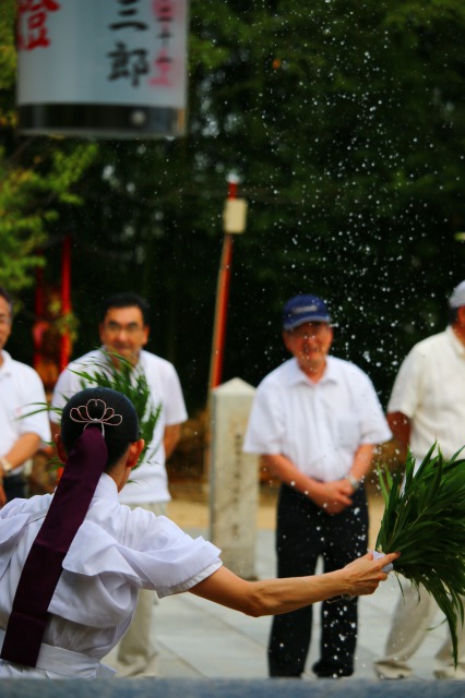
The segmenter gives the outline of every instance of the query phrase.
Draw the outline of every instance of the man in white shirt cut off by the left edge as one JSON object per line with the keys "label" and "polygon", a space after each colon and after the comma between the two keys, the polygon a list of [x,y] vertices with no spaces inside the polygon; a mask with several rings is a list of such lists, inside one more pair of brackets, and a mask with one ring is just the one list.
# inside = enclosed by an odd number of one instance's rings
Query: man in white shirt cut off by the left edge
{"label": "man in white shirt cut off by the left edge", "polygon": [[50,441],[47,412],[32,412],[46,406],[39,375],[4,351],[13,325],[13,301],[0,287],[0,506],[24,497],[24,469],[40,442]]}

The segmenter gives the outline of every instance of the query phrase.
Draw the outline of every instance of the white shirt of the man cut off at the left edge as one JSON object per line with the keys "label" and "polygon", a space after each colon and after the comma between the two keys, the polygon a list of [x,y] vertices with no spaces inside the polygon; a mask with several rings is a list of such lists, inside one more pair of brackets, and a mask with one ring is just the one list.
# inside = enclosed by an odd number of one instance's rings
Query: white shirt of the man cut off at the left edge
{"label": "white shirt of the man cut off at the left edge", "polygon": [[[47,411],[29,414],[47,406],[38,373],[12,359],[8,351],[2,351],[1,356],[0,456],[4,456],[23,434],[37,434],[43,442],[49,442],[51,436]],[[15,468],[12,474],[19,474],[23,468],[24,465]]]}

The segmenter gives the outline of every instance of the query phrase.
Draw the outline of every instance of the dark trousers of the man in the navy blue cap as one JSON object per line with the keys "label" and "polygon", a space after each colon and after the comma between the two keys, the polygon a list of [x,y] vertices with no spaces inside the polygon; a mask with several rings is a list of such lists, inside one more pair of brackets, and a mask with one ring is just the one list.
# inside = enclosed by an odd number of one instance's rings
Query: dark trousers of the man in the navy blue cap
{"label": "dark trousers of the man in the navy blue cap", "polygon": [[[368,506],[363,489],[353,506],[330,516],[303,494],[282,485],[277,506],[277,576],[313,575],[323,557],[323,571],[344,567],[365,555]],[[312,606],[273,618],[269,642],[270,676],[298,677],[305,670],[311,640]],[[357,599],[322,603],[318,676],[350,676],[357,642]]]}

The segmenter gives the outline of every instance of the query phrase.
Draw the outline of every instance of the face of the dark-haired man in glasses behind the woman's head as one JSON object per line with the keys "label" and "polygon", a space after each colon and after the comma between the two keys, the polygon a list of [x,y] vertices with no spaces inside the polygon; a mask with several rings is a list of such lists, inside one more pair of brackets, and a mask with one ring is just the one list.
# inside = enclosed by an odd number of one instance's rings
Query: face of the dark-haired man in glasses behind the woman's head
{"label": "face of the dark-haired man in glasses behind the woman's head", "polygon": [[132,365],[138,363],[148,340],[148,326],[144,325],[140,308],[110,308],[99,329],[100,341],[108,351],[119,353]]}

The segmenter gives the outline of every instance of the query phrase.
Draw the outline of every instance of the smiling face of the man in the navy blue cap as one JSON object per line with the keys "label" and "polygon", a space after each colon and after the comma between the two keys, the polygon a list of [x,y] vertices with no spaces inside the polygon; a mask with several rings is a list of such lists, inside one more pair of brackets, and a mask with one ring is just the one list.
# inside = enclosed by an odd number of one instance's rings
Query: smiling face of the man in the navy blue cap
{"label": "smiling face of the man in the navy blue cap", "polygon": [[310,377],[326,365],[333,342],[333,329],[327,323],[303,323],[283,334],[285,347],[297,359],[300,369]]}

